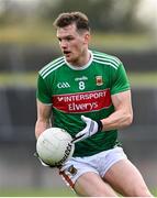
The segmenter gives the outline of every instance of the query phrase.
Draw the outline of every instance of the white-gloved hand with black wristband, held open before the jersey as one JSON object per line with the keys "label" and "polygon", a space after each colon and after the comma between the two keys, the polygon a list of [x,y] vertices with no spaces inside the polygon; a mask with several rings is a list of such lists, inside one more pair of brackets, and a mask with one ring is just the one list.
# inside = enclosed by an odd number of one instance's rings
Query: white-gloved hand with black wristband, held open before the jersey
{"label": "white-gloved hand with black wristband, held open before the jersey", "polygon": [[94,121],[90,118],[87,118],[85,116],[81,116],[81,120],[86,123],[86,128],[76,134],[74,143],[82,141],[93,134],[96,134],[98,131],[102,130],[102,122],[101,121]]}

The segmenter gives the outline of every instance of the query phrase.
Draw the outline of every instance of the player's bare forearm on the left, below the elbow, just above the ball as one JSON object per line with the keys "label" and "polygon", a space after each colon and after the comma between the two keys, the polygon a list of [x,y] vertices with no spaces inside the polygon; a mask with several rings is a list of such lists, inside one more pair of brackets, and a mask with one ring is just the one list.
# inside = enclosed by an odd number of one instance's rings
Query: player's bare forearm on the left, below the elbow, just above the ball
{"label": "player's bare forearm on the left, below the elbow, just above the ball", "polygon": [[48,129],[51,127],[52,127],[51,120],[46,120],[46,121],[37,120],[36,124],[35,124],[35,136],[36,136],[36,139],[38,139],[40,134],[43,131],[45,131],[46,129]]}

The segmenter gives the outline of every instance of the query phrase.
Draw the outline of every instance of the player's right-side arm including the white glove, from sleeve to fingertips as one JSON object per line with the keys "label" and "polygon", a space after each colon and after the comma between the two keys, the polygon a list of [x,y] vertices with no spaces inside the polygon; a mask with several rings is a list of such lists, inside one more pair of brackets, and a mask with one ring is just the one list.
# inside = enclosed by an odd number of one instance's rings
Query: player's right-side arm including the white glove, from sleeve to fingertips
{"label": "player's right-side arm including the white glove, from sleeve to fingertips", "polygon": [[75,142],[82,141],[99,131],[111,131],[130,125],[133,121],[131,90],[111,96],[115,111],[105,119],[94,121],[81,116],[86,128],[76,134]]}

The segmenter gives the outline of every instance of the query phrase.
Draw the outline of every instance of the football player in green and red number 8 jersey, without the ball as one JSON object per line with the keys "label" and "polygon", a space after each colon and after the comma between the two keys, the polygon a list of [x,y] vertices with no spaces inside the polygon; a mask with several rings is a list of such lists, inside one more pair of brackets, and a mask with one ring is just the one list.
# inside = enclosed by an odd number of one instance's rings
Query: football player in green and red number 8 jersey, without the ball
{"label": "football player in green and red number 8 jersey, without the ball", "polygon": [[77,138],[74,156],[59,174],[78,195],[150,197],[117,140],[117,132],[133,120],[122,62],[89,50],[90,26],[83,13],[61,13],[54,24],[63,56],[38,73],[36,139],[52,125]]}

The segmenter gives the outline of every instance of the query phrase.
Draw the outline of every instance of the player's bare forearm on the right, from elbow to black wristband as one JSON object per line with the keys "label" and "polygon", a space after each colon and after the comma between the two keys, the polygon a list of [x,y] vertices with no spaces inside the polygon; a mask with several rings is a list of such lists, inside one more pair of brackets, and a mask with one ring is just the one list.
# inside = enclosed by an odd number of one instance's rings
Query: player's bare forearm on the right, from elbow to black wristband
{"label": "player's bare forearm on the right, from elbow to black wristband", "polygon": [[133,121],[133,113],[117,110],[106,119],[102,119],[102,131],[110,131],[114,129],[122,129],[130,125]]}

